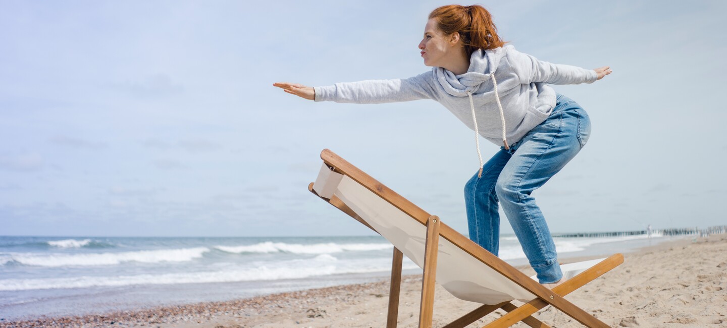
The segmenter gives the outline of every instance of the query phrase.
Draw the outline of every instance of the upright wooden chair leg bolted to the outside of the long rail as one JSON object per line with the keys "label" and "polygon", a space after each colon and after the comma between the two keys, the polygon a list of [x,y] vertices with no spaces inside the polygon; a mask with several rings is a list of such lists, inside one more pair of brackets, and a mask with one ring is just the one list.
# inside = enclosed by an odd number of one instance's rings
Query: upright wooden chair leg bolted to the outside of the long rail
{"label": "upright wooden chair leg bolted to the outside of the long rail", "polygon": [[434,287],[437,275],[437,253],[439,250],[439,217],[432,215],[427,220],[427,239],[424,249],[424,275],[422,276],[422,301],[419,304],[419,328],[432,327],[434,314]]}

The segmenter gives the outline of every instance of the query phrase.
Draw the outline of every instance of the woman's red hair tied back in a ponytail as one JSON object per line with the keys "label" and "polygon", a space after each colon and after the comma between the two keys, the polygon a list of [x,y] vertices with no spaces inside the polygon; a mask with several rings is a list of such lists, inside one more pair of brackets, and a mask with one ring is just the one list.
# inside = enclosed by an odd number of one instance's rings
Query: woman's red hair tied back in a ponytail
{"label": "woman's red hair tied back in a ponytail", "polygon": [[494,49],[505,45],[497,35],[492,15],[480,5],[450,4],[432,10],[429,18],[437,20],[437,28],[445,35],[459,33],[467,58],[477,49]]}

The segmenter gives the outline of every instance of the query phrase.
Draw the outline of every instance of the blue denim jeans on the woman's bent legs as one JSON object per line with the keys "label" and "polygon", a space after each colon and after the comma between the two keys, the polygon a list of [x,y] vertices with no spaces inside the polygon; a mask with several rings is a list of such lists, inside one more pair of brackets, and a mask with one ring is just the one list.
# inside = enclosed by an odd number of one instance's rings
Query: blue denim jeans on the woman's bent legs
{"label": "blue denim jeans on the woman's bent legs", "polygon": [[530,265],[541,284],[563,276],[553,236],[533,191],[558,173],[586,144],[590,119],[575,101],[558,95],[553,113],[531,129],[510,150],[504,147],[465,185],[470,239],[497,256],[499,213],[497,203],[513,226]]}

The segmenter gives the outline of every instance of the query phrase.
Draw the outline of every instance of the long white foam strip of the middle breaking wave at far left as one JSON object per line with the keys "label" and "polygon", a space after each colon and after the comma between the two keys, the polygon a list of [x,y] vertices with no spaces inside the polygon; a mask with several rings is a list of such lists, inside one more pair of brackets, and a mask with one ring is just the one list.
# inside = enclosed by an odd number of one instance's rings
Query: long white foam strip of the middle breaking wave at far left
{"label": "long white foam strip of the middle breaking wave at far left", "polygon": [[12,260],[25,265],[38,265],[47,267],[76,266],[76,265],[117,265],[124,262],[159,263],[159,262],[185,262],[202,257],[209,252],[206,247],[183,249],[159,249],[137,252],[105,252],[90,254],[47,254],[35,253],[11,254]]}

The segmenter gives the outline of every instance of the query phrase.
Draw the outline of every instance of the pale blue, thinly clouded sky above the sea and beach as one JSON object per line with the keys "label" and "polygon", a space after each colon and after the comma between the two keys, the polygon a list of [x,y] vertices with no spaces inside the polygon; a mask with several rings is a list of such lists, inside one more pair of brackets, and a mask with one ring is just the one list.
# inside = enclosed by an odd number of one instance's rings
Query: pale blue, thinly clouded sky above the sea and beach
{"label": "pale blue, thinly clouded sky above the sea and beach", "polygon": [[[0,1],[0,236],[371,234],[308,191],[324,148],[466,234],[478,158],[442,105],[272,87],[428,71],[443,4]],[[727,2],[480,4],[519,51],[614,71],[553,86],[593,132],[533,194],[551,231],[727,224]]]}

